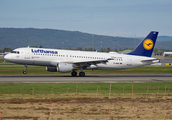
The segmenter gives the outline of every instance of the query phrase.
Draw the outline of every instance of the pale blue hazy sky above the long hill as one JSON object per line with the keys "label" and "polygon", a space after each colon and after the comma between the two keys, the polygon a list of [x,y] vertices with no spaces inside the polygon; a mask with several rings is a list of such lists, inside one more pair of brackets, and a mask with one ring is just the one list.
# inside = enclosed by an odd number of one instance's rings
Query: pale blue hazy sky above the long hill
{"label": "pale blue hazy sky above the long hill", "polygon": [[0,28],[172,36],[172,0],[0,0]]}

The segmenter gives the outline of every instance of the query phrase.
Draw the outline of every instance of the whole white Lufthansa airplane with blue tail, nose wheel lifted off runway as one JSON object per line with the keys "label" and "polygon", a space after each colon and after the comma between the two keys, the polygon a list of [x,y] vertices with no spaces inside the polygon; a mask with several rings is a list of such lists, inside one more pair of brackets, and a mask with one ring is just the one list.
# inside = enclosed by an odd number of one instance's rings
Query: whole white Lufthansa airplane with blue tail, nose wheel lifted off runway
{"label": "whole white Lufthansa airplane with blue tail, nose wheel lifted off runway", "polygon": [[28,65],[46,66],[49,72],[71,72],[84,77],[84,69],[119,70],[158,63],[157,58],[152,58],[158,32],[151,31],[141,43],[128,54],[116,52],[88,52],[47,48],[17,48],[5,55],[6,61],[23,64],[27,73]]}

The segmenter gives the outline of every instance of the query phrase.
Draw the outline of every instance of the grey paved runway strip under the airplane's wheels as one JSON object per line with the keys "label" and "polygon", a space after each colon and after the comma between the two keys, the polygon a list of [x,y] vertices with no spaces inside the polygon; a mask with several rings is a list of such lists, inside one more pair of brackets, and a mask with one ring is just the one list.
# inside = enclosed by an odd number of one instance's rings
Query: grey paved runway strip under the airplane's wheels
{"label": "grey paved runway strip under the airplane's wheels", "polygon": [[168,75],[87,75],[71,77],[70,75],[0,75],[1,83],[95,83],[95,82],[172,82]]}

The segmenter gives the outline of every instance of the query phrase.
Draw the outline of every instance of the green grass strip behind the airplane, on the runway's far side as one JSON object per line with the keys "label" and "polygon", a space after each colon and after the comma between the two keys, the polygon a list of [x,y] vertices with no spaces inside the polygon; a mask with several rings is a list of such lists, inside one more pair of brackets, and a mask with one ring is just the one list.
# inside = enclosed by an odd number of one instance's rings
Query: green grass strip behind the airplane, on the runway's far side
{"label": "green grass strip behind the airplane, on the runway's far side", "polygon": [[[2,67],[0,66],[0,75],[21,75],[24,70],[24,66],[22,67]],[[79,71],[78,71],[79,72]],[[144,66],[144,67],[136,67],[131,69],[124,70],[84,70],[87,74],[172,74],[171,66],[164,67],[152,67],[152,66]],[[67,74],[70,73],[59,73],[59,72],[48,72],[46,71],[46,67],[37,67],[37,66],[29,66],[27,69],[28,75],[47,75],[47,74]]]}

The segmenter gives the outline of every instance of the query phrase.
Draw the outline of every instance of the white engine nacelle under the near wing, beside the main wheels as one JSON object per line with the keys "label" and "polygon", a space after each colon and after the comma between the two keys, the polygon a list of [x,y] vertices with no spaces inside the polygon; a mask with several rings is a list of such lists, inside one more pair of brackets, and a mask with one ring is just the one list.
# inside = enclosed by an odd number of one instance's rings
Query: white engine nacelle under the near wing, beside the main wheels
{"label": "white engine nacelle under the near wing, beside the main wheels", "polygon": [[58,72],[71,72],[73,69],[73,65],[72,64],[67,64],[67,63],[59,63],[57,64],[57,71]]}

